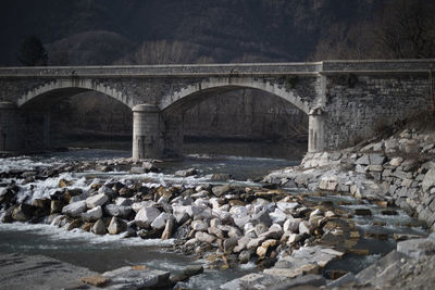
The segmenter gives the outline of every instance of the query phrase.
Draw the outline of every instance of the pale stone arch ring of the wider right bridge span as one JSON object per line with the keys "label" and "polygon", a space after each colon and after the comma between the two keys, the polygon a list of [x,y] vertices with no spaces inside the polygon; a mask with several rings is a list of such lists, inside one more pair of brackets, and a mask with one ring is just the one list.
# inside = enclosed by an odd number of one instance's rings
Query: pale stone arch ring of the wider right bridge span
{"label": "pale stone arch ring of the wider right bridge span", "polygon": [[272,84],[252,77],[212,77],[204,79],[201,83],[191,84],[178,91],[164,96],[160,102],[160,109],[163,112],[171,112],[179,109],[183,110],[186,106],[201,102],[212,94],[244,88],[259,89],[270,92],[294,104],[306,114],[310,113],[310,104],[303,101],[296,90],[288,89],[279,84]]}

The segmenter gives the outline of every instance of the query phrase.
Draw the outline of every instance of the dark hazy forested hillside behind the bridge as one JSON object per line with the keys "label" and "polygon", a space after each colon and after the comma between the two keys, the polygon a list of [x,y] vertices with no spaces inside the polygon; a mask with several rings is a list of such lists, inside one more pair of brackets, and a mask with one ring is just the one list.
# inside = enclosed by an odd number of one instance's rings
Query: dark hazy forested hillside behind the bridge
{"label": "dark hazy forested hillside behind the bridge", "polygon": [[[249,58],[303,61],[325,27],[370,18],[375,0],[3,0],[0,3],[0,64],[27,35],[53,43],[86,31],[110,31],[139,47],[144,41],[184,41],[215,62]],[[16,16],[20,15],[20,16]],[[100,41],[113,46],[112,36]],[[79,40],[78,40],[79,41]],[[124,52],[129,45],[119,47]],[[90,48],[89,48],[90,49]],[[94,48],[94,49],[99,49]],[[74,54],[75,48],[71,48]],[[113,51],[116,54],[116,51]],[[202,56],[202,55],[201,55]],[[113,58],[101,60],[108,64]],[[76,62],[75,59],[72,59]],[[88,60],[89,61],[89,60]],[[82,60],[86,64],[86,60]]]}

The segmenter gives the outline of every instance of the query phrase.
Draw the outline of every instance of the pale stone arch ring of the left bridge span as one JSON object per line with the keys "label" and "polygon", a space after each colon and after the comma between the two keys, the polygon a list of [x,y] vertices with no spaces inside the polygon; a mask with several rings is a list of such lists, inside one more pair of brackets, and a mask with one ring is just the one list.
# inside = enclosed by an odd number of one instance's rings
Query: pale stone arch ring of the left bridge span
{"label": "pale stone arch ring of the left bridge span", "polygon": [[135,105],[133,98],[128,98],[120,90],[101,83],[92,81],[91,79],[75,78],[62,78],[40,85],[39,87],[36,87],[21,96],[16,101],[16,105],[17,108],[21,108],[39,97],[50,93],[63,92],[66,96],[73,96],[85,91],[98,91],[104,93],[130,109]]}

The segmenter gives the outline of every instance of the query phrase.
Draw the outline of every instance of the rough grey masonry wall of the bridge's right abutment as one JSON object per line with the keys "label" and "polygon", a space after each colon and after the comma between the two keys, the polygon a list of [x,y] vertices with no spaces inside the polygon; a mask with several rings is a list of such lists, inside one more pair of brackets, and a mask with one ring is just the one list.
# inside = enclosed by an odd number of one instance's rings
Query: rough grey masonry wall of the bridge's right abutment
{"label": "rough grey masonry wall of the bridge's right abutment", "polygon": [[325,149],[345,148],[376,128],[431,108],[427,75],[327,77]]}

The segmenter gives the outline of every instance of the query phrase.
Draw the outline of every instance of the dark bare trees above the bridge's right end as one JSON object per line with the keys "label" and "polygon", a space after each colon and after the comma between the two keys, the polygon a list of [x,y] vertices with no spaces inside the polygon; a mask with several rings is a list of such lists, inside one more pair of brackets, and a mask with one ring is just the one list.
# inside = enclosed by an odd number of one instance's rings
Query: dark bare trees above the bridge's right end
{"label": "dark bare trees above the bridge's right end", "polygon": [[434,58],[433,15],[435,5],[428,0],[389,0],[373,20],[331,26],[311,59]]}

